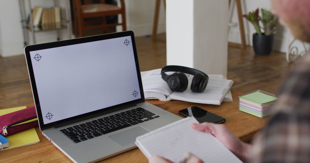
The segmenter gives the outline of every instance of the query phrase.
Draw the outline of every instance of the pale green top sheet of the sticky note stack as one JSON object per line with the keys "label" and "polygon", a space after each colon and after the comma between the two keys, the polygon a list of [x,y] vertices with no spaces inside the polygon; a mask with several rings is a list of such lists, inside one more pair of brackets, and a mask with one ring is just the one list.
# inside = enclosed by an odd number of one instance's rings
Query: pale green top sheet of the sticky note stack
{"label": "pale green top sheet of the sticky note stack", "polygon": [[264,93],[259,92],[259,91],[241,96],[241,98],[245,98],[245,99],[251,100],[253,102],[261,103],[261,104],[271,102],[271,101],[278,99],[276,97],[270,96],[268,94],[264,94]]}

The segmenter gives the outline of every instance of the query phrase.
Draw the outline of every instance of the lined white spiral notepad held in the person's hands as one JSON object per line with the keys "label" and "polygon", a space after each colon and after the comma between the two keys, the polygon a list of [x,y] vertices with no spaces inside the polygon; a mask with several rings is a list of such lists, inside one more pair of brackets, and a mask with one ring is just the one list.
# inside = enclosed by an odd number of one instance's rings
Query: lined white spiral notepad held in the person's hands
{"label": "lined white spiral notepad held in the person's hands", "polygon": [[184,153],[190,152],[204,162],[241,162],[214,136],[194,130],[192,123],[198,121],[188,117],[170,123],[137,137],[135,144],[148,159],[157,154],[179,162]]}

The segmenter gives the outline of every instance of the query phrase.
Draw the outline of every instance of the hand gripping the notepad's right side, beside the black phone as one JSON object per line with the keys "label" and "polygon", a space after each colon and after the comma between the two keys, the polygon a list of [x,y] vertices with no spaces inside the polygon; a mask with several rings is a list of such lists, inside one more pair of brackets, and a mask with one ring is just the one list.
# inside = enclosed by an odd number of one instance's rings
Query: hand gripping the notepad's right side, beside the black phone
{"label": "hand gripping the notepad's right side, beside the black phone", "polygon": [[252,146],[239,140],[239,138],[223,124],[207,122],[201,124],[193,123],[192,127],[197,131],[210,133],[215,136],[216,139],[224,144],[224,146],[234,153],[241,161],[249,159]]}

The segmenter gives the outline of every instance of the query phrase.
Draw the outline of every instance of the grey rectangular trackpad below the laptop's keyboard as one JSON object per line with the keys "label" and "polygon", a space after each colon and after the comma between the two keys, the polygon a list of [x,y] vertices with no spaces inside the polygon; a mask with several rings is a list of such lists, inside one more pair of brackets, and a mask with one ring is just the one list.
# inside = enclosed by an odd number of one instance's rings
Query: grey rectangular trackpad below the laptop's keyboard
{"label": "grey rectangular trackpad below the laptop's keyboard", "polygon": [[135,127],[133,129],[130,129],[124,132],[111,135],[109,137],[113,139],[114,141],[116,141],[118,144],[121,144],[122,146],[126,146],[129,144],[135,143],[135,138],[137,136],[143,135],[148,132],[150,131],[139,126],[139,127]]}

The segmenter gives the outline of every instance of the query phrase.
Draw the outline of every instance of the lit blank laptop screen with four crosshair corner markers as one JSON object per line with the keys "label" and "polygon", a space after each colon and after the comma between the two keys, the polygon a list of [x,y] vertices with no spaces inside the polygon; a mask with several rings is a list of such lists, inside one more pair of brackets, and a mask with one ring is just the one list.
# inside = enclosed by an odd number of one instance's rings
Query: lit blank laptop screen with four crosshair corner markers
{"label": "lit blank laptop screen with four crosshair corner markers", "polygon": [[29,53],[44,124],[141,98],[131,36]]}

